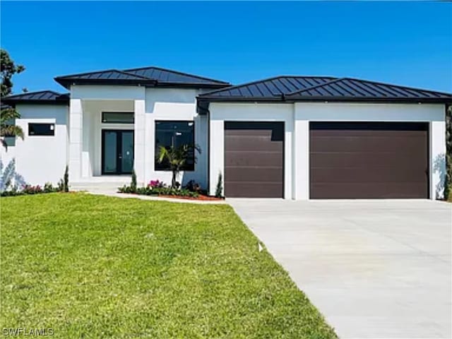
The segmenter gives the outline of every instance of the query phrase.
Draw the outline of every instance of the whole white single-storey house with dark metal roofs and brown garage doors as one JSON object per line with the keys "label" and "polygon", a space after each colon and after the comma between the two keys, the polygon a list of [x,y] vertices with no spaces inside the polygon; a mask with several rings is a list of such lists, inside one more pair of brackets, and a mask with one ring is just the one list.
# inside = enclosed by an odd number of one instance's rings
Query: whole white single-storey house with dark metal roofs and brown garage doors
{"label": "whole white single-storey house with dark metal roofs and brown garage doors", "polygon": [[230,85],[145,67],[58,76],[69,93],[3,98],[25,132],[16,158],[30,184],[170,182],[159,145],[195,143],[180,181],[227,197],[441,198],[452,95],[328,76]]}

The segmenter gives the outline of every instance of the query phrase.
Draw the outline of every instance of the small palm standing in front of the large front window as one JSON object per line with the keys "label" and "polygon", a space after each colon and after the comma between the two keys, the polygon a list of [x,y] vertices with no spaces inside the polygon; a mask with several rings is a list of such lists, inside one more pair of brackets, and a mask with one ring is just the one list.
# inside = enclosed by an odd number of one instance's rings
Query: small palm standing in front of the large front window
{"label": "small palm standing in front of the large front window", "polygon": [[193,155],[195,151],[201,153],[201,148],[198,145],[180,145],[179,147],[174,146],[159,146],[158,148],[157,161],[161,164],[162,162],[167,162],[169,169],[172,172],[171,187],[173,189],[177,188],[177,176],[179,172],[184,169],[187,160],[193,156],[194,162],[196,163],[196,156]]}

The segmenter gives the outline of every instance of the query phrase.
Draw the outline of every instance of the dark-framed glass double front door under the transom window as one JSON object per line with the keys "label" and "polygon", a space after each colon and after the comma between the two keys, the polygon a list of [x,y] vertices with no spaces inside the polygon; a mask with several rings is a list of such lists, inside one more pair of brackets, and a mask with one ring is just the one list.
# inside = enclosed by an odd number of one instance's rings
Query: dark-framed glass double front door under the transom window
{"label": "dark-framed glass double front door under the transom window", "polygon": [[131,174],[133,131],[102,129],[102,174]]}

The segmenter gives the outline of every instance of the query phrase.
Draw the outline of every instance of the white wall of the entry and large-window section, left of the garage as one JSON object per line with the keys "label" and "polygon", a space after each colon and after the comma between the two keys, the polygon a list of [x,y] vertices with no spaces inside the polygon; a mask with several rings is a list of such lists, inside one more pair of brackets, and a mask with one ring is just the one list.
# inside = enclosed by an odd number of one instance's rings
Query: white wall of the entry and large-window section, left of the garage
{"label": "white wall of the entry and large-window section, left of the garage", "polygon": [[[194,179],[206,188],[208,119],[196,113],[196,95],[199,93],[199,90],[180,88],[73,85],[69,146],[71,179],[89,182],[101,175],[102,129],[133,129],[133,167],[138,184],[146,184],[151,179],[171,182],[171,172],[154,169],[155,121],[186,120],[195,123],[195,143],[200,146],[201,154],[197,154],[194,172],[181,172],[179,181],[186,184]],[[104,124],[102,112],[134,112],[135,124]]]}

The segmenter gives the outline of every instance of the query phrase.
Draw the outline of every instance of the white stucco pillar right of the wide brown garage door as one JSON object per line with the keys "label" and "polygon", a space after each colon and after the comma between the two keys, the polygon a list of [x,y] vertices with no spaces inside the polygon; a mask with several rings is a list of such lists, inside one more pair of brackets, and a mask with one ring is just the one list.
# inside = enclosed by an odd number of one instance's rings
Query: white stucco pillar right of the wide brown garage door
{"label": "white stucco pillar right of the wide brown garage door", "polygon": [[446,121],[430,122],[430,198],[444,198],[446,179]]}

